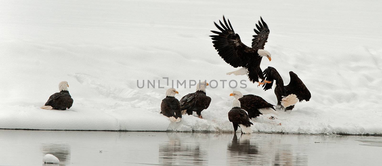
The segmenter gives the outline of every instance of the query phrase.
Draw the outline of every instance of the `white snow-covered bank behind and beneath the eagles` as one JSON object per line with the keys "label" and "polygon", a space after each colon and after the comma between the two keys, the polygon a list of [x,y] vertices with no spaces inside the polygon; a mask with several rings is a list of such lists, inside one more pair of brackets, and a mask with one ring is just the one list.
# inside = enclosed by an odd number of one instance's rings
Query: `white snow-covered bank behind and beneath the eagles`
{"label": "white snow-covered bank behind and beneath the eagles", "polygon": [[[176,123],[159,114],[170,87],[162,77],[187,81],[175,87],[178,99],[195,92],[190,79],[248,80],[227,76],[236,69],[212,46],[213,22],[224,14],[247,46],[262,16],[272,61],[263,58],[261,68],[273,66],[285,84],[294,71],[312,94],[275,120],[254,119],[255,132],[382,134],[380,6],[373,0],[1,1],[0,128],[233,132],[230,93],[275,104],[273,89],[219,82],[206,89],[212,102],[204,119],[185,115]],[[139,89],[137,80],[160,80],[165,88]],[[73,107],[40,109],[61,81],[70,85]]]}

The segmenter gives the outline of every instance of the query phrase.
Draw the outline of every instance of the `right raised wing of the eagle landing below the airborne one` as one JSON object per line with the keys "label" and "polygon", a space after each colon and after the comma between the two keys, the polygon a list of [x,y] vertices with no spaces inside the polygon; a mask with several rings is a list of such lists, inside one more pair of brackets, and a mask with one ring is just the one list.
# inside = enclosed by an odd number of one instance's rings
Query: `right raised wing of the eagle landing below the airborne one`
{"label": "right raised wing of the eagle landing below the airborne one", "polygon": [[309,101],[311,98],[311,93],[305,86],[304,82],[301,81],[301,79],[297,76],[297,74],[293,73],[293,71],[290,71],[289,75],[290,82],[285,86],[288,94],[295,94],[300,102],[303,100]]}

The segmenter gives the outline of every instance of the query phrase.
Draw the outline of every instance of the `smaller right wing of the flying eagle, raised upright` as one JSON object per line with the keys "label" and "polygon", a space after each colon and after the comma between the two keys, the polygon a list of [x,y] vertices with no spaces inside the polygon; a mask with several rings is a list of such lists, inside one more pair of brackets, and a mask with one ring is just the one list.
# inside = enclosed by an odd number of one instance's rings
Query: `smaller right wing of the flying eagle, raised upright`
{"label": "smaller right wing of the flying eagle, raised upright", "polygon": [[252,48],[253,49],[264,49],[265,43],[267,43],[268,35],[269,35],[269,28],[268,25],[264,22],[264,20],[260,17],[261,22],[259,21],[256,28],[253,30],[256,32],[257,35],[253,35],[252,39]]}

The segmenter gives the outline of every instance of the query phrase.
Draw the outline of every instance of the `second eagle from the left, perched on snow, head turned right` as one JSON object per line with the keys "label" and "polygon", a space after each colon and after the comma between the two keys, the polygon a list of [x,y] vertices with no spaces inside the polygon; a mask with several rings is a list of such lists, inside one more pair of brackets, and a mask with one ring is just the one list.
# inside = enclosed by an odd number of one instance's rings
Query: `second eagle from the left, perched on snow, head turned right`
{"label": "second eagle from the left, perched on snow, head turned right", "polygon": [[175,98],[175,93],[179,94],[175,88],[167,89],[166,98],[164,98],[160,104],[160,113],[169,117],[172,122],[180,122],[182,113],[179,100]]}

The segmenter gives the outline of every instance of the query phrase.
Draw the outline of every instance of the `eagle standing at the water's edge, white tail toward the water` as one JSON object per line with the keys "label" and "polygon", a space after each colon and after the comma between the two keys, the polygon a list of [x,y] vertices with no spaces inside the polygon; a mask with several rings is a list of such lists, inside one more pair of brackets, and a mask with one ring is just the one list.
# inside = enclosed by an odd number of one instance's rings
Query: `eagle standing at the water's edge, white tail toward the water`
{"label": "eagle standing at the water's edge, white tail toward the water", "polygon": [[251,134],[253,133],[251,129],[252,122],[249,122],[249,117],[247,112],[240,108],[240,101],[233,100],[232,109],[228,112],[228,120],[232,122],[233,130],[238,130],[238,126],[241,128],[241,133]]}

